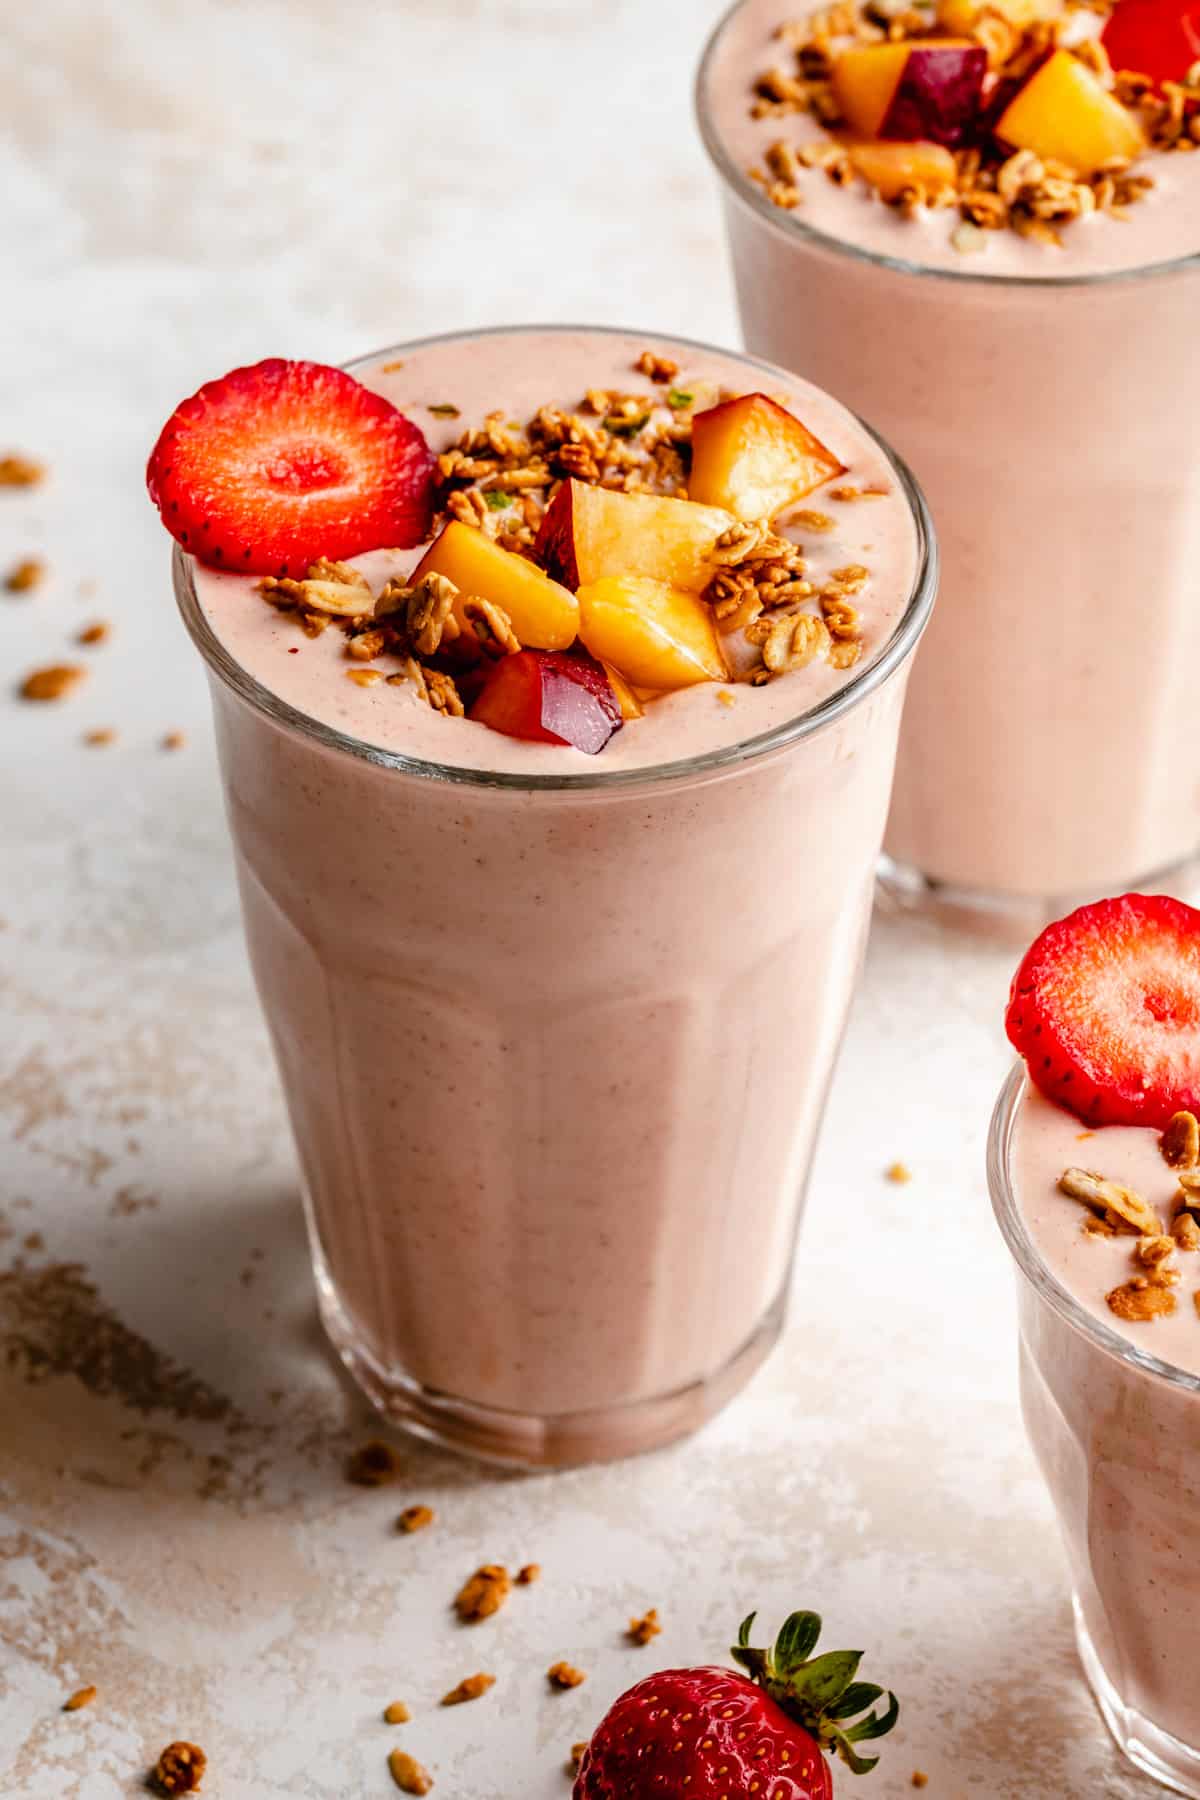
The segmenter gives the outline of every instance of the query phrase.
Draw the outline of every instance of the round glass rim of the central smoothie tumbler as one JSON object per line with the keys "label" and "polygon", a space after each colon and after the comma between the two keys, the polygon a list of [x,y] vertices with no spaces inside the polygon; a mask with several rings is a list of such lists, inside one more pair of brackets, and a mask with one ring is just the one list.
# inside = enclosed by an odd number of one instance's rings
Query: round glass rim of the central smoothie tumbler
{"label": "round glass rim of the central smoothie tumbler", "polygon": [[[434,344],[453,344],[480,337],[542,337],[552,331],[599,337],[644,337],[653,344],[664,344],[676,349],[703,351],[705,355],[718,356],[732,355],[739,362],[745,362],[770,376],[774,382],[790,383],[797,380],[797,376],[788,374],[786,369],[781,369],[777,364],[765,362],[761,356],[750,356],[745,351],[721,351],[718,346],[705,344],[698,338],[675,337],[660,331],[640,331],[626,326],[576,324],[484,326],[480,329],[439,331],[432,337],[412,338],[403,344],[389,344],[367,356],[354,356],[342,367],[349,374],[358,374],[385,358],[392,360],[396,356],[407,356]],[[354,738],[345,731],[338,731],[335,725],[327,725],[322,720],[313,718],[309,713],[302,713],[288,700],[272,693],[272,689],[263,686],[263,682],[255,680],[255,677],[230,655],[205,617],[193,578],[194,558],[189,556],[180,544],[175,545],[171,560],[175,598],[184,617],[184,625],[201,657],[209,664],[209,670],[218,675],[221,682],[243,702],[270,718],[273,724],[311,738],[324,749],[356,756],[360,761],[374,763],[380,769],[394,769],[419,779],[450,781],[461,787],[509,788],[522,792],[617,792],[622,788],[666,787],[675,781],[716,774],[754,761],[761,756],[768,756],[775,751],[788,749],[792,743],[813,736],[815,733],[835,724],[858,706],[860,700],[865,700],[867,695],[874,693],[876,688],[882,688],[883,682],[909,659],[928,623],[934,596],[937,592],[937,538],[925,495],[907,463],[891,448],[891,445],[885,443],[883,437],[880,437],[880,434],[865,423],[865,419],[860,419],[856,414],[851,414],[851,418],[855,418],[856,425],[887,457],[887,463],[909,504],[914,526],[918,551],[916,576],[903,612],[896,621],[896,628],[874,657],[862,666],[862,670],[853,673],[847,682],[824,700],[817,702],[817,706],[810,706],[806,711],[797,713],[793,718],[786,718],[770,731],[756,733],[750,738],[739,738],[736,743],[720,745],[712,751],[703,751],[698,756],[669,763],[648,763],[640,769],[613,769],[608,772],[597,769],[596,772],[587,770],[581,774],[520,774],[516,770],[462,769],[455,763],[437,763],[419,756],[408,756],[403,751],[389,751],[381,745],[367,743],[363,738]]]}

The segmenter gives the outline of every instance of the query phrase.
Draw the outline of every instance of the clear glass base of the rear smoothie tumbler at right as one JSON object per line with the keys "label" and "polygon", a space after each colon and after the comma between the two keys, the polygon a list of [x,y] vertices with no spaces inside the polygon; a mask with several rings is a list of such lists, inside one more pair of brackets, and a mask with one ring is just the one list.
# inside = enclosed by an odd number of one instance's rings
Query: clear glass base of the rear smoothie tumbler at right
{"label": "clear glass base of the rear smoothie tumbler at right", "polygon": [[975,938],[1020,947],[1052,920],[1065,918],[1078,905],[1101,900],[1106,893],[1166,893],[1195,905],[1200,902],[1200,851],[1166,869],[1119,882],[1115,887],[1074,895],[1004,895],[984,887],[955,887],[887,855],[880,857],[876,882],[876,904],[882,913],[919,916]]}

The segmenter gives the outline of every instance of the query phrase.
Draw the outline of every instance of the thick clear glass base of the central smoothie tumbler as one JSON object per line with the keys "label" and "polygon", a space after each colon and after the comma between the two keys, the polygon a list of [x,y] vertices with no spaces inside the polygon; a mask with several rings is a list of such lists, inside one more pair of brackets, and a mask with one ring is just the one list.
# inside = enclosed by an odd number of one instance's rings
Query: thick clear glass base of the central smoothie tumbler
{"label": "thick clear glass base of the central smoothie tumbler", "polygon": [[439,1449],[459,1451],[504,1469],[572,1469],[617,1462],[662,1449],[698,1431],[745,1388],[775,1346],[786,1292],[774,1301],[754,1336],[714,1375],[673,1393],[587,1413],[513,1413],[423,1388],[380,1366],[356,1336],[326,1271],[317,1265],[320,1321],[338,1357],[372,1406],[392,1426]]}

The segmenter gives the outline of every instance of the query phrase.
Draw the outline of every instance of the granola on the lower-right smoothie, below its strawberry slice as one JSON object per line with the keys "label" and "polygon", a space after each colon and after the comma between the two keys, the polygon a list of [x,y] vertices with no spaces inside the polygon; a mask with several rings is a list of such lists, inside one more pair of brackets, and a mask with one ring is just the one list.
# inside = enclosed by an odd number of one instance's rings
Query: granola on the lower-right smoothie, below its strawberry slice
{"label": "granola on the lower-right smoothie, below its strawberry slice", "polygon": [[[1083,1229],[1090,1237],[1133,1237],[1133,1273],[1105,1296],[1108,1310],[1128,1323],[1169,1318],[1177,1309],[1175,1289],[1182,1280],[1178,1255],[1200,1251],[1200,1121],[1195,1112],[1177,1112],[1159,1141],[1162,1161],[1178,1183],[1169,1224],[1133,1188],[1087,1168],[1067,1168],[1058,1188],[1087,1206]],[[1195,1292],[1200,1314],[1200,1287]]]}

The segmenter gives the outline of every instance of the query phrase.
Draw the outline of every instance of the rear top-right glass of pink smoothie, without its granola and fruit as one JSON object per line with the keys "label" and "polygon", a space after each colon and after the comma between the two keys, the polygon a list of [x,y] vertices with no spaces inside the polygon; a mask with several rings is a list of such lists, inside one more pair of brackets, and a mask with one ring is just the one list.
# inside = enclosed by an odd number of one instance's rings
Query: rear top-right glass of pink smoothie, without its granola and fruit
{"label": "rear top-right glass of pink smoothie, without its granola and fruit", "polygon": [[748,347],[871,418],[937,524],[885,882],[1022,932],[1078,898],[1180,893],[1200,846],[1200,157],[1150,157],[1151,198],[1063,248],[999,230],[964,256],[954,212],[905,220],[819,169],[784,212],[747,171],[822,133],[750,103],[804,11],[734,7],[698,112]]}

